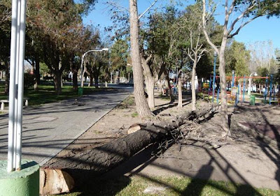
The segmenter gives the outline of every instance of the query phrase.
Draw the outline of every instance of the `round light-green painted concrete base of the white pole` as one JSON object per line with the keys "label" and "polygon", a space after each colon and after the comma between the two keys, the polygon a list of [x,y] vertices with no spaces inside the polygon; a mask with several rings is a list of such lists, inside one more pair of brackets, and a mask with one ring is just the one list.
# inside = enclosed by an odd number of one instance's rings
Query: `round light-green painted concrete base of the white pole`
{"label": "round light-green painted concrete base of the white pole", "polygon": [[7,172],[7,160],[0,160],[0,196],[38,196],[39,165],[22,160],[22,169]]}

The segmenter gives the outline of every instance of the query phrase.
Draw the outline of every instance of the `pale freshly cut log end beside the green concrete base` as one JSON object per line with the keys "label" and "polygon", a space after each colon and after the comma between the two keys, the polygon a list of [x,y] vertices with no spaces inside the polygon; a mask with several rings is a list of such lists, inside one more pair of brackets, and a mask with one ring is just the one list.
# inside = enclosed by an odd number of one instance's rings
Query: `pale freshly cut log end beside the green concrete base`
{"label": "pale freshly cut log end beside the green concrete base", "polygon": [[74,188],[74,180],[61,169],[40,169],[40,194],[55,195],[70,193]]}

